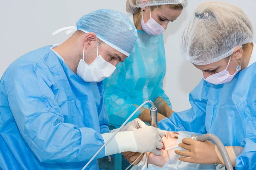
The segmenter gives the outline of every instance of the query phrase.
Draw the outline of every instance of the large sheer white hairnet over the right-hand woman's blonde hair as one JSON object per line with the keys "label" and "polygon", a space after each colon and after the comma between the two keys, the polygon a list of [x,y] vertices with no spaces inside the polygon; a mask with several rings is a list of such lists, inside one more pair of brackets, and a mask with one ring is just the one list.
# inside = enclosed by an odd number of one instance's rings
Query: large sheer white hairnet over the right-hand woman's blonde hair
{"label": "large sheer white hairnet over the right-hand woman's blonde hair", "polygon": [[229,57],[235,48],[253,41],[253,27],[241,8],[218,1],[198,5],[185,28],[181,54],[195,65]]}

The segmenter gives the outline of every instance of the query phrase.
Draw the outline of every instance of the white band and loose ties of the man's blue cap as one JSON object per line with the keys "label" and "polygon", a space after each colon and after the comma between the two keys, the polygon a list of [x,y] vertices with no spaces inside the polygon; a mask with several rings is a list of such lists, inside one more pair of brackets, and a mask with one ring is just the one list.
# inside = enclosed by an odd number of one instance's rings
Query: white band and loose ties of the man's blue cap
{"label": "white band and loose ties of the man's blue cap", "polygon": [[[58,34],[59,32],[65,31],[65,30],[68,30],[68,31],[66,31],[66,34],[70,34],[71,32],[77,31],[78,29],[77,29],[76,26],[63,27],[63,28],[60,28],[60,29],[54,31],[54,32],[52,33],[52,35]],[[83,32],[86,33],[86,34],[88,34],[88,33],[90,32],[90,31],[85,31],[85,30],[82,30],[82,29],[79,29],[79,30],[80,30],[80,31],[83,31]],[[122,50],[121,48],[117,47],[116,45],[111,44],[110,42],[104,40],[103,38],[99,37],[98,35],[97,35],[97,37],[98,37],[100,40],[102,40],[103,42],[105,42],[106,44],[108,44],[109,46],[111,46],[112,48],[116,49],[116,50],[119,51],[120,53],[125,54],[127,57],[129,57],[130,54],[129,54],[128,52]]]}

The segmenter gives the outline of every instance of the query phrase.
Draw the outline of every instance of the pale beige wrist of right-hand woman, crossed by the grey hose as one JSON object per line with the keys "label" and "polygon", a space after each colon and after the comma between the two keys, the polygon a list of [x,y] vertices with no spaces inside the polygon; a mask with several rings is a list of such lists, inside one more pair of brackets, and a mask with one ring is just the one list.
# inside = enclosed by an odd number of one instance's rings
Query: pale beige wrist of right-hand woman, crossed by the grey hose
{"label": "pale beige wrist of right-hand woman, crossed by the grey hose", "polygon": [[[239,146],[226,146],[225,147],[228,153],[228,156],[230,157],[231,163],[233,167],[236,167],[235,159],[237,156],[239,156],[243,150],[244,147]],[[221,152],[218,150],[218,147],[215,145],[215,151],[217,153],[218,159],[221,161],[221,164],[225,165],[224,160],[221,156]]]}

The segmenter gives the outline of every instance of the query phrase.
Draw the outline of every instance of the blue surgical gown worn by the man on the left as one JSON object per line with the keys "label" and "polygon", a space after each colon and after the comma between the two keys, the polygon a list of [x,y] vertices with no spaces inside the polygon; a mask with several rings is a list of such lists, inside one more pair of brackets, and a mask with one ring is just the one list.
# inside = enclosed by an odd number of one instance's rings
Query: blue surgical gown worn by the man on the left
{"label": "blue surgical gown worn by the man on the left", "polygon": [[[0,169],[81,170],[104,144],[102,82],[84,82],[51,46],[19,57],[1,78]],[[95,159],[87,170],[96,169]]]}

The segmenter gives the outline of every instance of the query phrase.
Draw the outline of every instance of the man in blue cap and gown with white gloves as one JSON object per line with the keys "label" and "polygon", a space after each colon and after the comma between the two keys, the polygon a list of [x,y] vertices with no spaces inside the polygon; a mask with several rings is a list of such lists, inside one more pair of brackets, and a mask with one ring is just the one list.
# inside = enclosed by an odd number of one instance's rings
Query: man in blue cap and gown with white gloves
{"label": "man in blue cap and gown with white gloves", "polygon": [[[3,74],[0,169],[81,170],[112,136],[102,80],[129,56],[137,31],[124,14],[106,9],[84,15],[76,26],[63,44],[31,51]],[[124,151],[160,155],[163,136],[135,119],[96,159]],[[87,170],[99,169],[96,159]]]}

